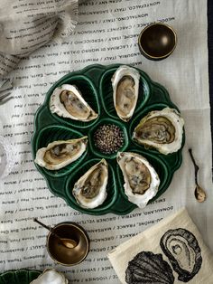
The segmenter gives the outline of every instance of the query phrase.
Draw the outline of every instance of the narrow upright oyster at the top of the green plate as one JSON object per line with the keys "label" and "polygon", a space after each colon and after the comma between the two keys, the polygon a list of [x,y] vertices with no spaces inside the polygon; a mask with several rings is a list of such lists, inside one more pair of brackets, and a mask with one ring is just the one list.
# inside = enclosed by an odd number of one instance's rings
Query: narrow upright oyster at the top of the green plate
{"label": "narrow upright oyster at the top of the green plate", "polygon": [[112,78],[113,99],[119,118],[128,121],[134,114],[139,91],[140,74],[129,66],[120,66]]}

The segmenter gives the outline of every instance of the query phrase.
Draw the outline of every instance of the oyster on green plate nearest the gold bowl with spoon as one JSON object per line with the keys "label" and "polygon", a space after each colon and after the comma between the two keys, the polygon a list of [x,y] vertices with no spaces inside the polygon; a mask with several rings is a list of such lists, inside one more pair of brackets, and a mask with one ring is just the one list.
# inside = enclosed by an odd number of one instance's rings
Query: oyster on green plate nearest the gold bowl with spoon
{"label": "oyster on green plate nearest the gold bowl with spoon", "polygon": [[106,200],[108,165],[102,159],[82,175],[73,187],[72,193],[83,208],[96,208]]}

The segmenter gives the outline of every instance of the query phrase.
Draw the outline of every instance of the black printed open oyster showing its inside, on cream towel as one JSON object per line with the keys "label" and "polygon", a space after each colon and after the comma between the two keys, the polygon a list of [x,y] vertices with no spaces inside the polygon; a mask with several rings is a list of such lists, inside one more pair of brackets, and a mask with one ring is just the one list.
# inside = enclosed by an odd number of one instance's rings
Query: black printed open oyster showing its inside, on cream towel
{"label": "black printed open oyster showing its inside, on cream towel", "polygon": [[199,272],[201,251],[191,232],[182,228],[169,230],[163,234],[160,245],[173,270],[178,273],[179,280],[188,282]]}

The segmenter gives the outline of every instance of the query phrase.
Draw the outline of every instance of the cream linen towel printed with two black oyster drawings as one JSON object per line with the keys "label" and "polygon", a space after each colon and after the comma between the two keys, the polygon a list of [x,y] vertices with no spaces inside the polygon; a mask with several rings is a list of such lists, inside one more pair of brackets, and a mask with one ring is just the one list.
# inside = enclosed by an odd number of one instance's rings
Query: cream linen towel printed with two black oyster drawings
{"label": "cream linen towel printed with two black oyster drawings", "polygon": [[107,256],[122,283],[213,283],[213,256],[186,209],[125,241]]}

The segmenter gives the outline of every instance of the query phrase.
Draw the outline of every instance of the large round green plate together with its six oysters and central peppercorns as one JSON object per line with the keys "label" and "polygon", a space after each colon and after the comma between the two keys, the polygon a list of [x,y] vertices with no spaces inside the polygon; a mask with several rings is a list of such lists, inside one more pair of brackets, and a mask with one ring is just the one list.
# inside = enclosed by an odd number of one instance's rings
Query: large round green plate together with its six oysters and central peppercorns
{"label": "large round green plate together with its six oysters and central peppercorns", "polygon": [[127,214],[162,195],[181,166],[184,121],[168,91],[130,65],[58,80],[37,110],[35,166],[81,213]]}

